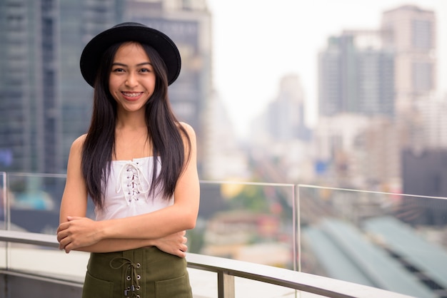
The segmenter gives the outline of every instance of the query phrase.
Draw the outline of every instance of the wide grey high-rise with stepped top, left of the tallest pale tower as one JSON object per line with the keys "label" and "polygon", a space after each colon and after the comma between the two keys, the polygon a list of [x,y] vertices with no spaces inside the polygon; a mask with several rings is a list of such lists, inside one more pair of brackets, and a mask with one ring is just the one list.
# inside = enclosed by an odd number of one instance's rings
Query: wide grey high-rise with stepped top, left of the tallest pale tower
{"label": "wide grey high-rise with stepped top, left of the tallest pale tower", "polygon": [[320,115],[394,114],[393,53],[380,31],[343,31],[318,57]]}

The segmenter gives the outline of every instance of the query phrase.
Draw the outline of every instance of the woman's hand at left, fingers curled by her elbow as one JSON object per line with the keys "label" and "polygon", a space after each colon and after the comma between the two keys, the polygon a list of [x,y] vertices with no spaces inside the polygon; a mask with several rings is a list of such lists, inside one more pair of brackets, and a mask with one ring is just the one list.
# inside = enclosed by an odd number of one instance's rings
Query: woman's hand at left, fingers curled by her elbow
{"label": "woman's hand at left, fingers curled by her elbow", "polygon": [[79,247],[94,245],[101,240],[99,235],[100,222],[87,217],[67,217],[67,222],[57,228],[59,249],[68,254]]}

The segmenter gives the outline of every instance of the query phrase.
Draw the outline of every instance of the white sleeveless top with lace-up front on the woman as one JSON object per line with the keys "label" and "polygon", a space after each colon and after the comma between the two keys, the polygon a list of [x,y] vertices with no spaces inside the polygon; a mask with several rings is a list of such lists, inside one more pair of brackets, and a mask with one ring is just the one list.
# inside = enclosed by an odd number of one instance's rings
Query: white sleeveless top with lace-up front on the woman
{"label": "white sleeveless top with lace-up front on the woman", "polygon": [[[104,193],[104,208],[95,208],[96,220],[141,215],[160,210],[174,204],[174,197],[164,199],[157,190],[151,190],[152,170],[154,163],[160,173],[160,160],[152,156],[134,158],[134,160],[112,160],[109,179]],[[152,192],[151,192],[152,193]]]}

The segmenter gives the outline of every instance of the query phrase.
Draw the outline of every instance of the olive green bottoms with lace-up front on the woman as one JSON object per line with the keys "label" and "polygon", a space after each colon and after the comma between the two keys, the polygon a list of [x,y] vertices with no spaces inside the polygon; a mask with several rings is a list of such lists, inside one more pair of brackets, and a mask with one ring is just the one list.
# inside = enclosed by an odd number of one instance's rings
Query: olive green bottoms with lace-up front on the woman
{"label": "olive green bottoms with lace-up front on the woman", "polygon": [[83,298],[191,298],[186,260],[144,247],[91,253]]}

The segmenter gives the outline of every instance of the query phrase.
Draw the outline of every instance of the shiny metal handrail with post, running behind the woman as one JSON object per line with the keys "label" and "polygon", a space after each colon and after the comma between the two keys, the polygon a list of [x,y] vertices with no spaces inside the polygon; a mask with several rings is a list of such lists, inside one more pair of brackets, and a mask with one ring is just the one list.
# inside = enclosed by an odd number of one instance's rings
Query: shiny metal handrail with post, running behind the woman
{"label": "shiny metal handrail with post, running behind the woman", "polygon": [[[31,232],[0,230],[0,242],[14,242],[45,247],[59,247],[56,237]],[[233,298],[234,277],[266,282],[303,292],[334,298],[409,298],[410,296],[383,289],[344,282],[338,279],[314,274],[296,272],[289,269],[253,264],[221,257],[211,257],[189,253],[188,267],[208,272],[216,272],[218,277],[218,297]],[[7,269],[7,268],[6,268]]]}

